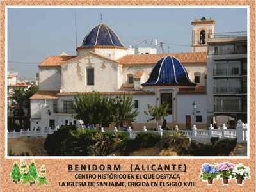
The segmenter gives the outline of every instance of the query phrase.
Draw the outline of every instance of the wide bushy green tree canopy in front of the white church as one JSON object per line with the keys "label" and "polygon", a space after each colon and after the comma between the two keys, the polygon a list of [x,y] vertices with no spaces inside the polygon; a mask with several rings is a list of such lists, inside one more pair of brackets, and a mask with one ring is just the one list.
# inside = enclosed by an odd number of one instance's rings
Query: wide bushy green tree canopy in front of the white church
{"label": "wide bushy green tree canopy in front of the white church", "polygon": [[[84,124],[104,124],[108,125],[112,122],[117,122],[116,106],[113,104],[111,97],[106,97],[99,92],[79,95],[75,97],[73,109],[73,118],[83,120]],[[124,123],[129,120],[134,122],[138,111],[132,111],[132,97],[122,96],[122,104],[118,106],[119,122]]]}

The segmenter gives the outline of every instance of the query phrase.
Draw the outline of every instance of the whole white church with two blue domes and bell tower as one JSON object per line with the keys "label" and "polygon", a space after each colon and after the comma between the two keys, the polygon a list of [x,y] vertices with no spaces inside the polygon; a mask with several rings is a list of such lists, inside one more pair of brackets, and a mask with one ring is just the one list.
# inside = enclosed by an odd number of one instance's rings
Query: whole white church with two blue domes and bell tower
{"label": "whole white church with two blue domes and bell tower", "polygon": [[139,114],[127,124],[134,129],[156,127],[155,121],[147,122],[144,111],[147,104],[161,102],[169,106],[166,127],[196,124],[207,129],[207,40],[214,33],[214,20],[195,18],[191,25],[191,52],[160,54],[152,47],[125,47],[101,22],[87,33],[76,55],[47,56],[38,65],[40,84],[31,97],[31,129],[80,124],[72,118],[74,97],[94,92],[132,96]]}

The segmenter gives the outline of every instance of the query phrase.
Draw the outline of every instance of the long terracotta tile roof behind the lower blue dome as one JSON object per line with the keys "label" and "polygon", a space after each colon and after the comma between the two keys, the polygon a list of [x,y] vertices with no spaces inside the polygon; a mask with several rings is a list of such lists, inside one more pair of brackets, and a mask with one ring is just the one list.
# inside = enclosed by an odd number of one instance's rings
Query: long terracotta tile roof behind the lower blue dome
{"label": "long terracotta tile roof behind the lower blue dome", "polygon": [[136,54],[127,55],[117,61],[124,65],[156,64],[164,56],[175,56],[180,63],[202,63],[206,64],[207,52],[184,52],[169,54]]}

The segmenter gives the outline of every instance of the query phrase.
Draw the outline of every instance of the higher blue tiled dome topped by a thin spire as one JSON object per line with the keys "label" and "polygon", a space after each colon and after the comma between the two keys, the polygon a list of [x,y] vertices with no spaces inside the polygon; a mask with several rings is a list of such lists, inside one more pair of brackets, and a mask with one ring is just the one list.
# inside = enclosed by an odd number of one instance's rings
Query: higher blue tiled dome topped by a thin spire
{"label": "higher blue tiled dome topped by a thin spire", "polygon": [[84,38],[81,47],[115,46],[124,47],[116,33],[106,24],[100,23]]}

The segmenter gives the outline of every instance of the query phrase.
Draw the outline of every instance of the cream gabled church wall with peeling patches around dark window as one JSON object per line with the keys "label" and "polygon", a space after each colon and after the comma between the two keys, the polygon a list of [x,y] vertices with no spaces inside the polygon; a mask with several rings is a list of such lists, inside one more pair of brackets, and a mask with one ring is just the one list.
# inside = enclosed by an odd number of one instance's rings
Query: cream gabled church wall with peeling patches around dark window
{"label": "cream gabled church wall with peeling patches around dark window", "polygon": [[[87,85],[86,68],[94,68],[94,85]],[[62,65],[63,92],[115,92],[118,87],[117,68],[116,63],[90,55],[65,63]]]}

